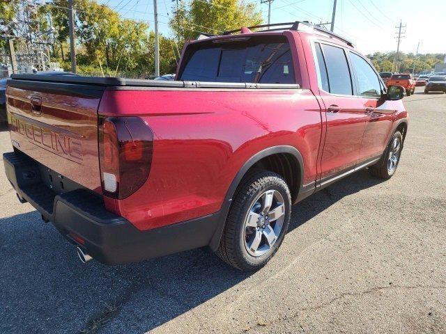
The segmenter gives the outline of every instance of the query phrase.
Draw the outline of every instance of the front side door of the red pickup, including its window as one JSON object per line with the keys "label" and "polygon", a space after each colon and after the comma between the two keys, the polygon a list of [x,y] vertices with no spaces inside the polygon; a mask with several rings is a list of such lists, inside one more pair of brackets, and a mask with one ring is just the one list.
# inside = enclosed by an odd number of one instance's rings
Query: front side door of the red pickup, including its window
{"label": "front side door of the red pickup, including its window", "polygon": [[392,131],[392,103],[382,97],[378,74],[359,54],[348,52],[357,98],[365,109],[365,130],[360,148],[360,162],[374,159],[384,152]]}

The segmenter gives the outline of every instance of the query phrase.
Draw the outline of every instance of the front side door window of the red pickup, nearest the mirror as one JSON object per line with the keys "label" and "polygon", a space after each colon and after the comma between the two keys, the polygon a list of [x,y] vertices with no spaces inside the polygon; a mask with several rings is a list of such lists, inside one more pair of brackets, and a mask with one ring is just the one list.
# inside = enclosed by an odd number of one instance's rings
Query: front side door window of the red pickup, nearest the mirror
{"label": "front side door window of the red pickup, nearest the mirror", "polygon": [[352,52],[350,52],[350,60],[356,74],[357,95],[380,97],[379,79],[369,63]]}

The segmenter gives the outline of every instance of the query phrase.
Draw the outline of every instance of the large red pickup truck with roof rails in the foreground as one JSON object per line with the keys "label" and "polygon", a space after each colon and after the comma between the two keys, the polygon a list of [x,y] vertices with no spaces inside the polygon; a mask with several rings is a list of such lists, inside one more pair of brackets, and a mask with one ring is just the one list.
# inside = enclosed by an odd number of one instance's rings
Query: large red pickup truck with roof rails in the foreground
{"label": "large red pickup truck with roof rails in the foreground", "polygon": [[351,42],[307,22],[189,42],[176,81],[13,75],[6,175],[72,244],[123,264],[210,246],[266,264],[291,205],[388,179],[408,115]]}

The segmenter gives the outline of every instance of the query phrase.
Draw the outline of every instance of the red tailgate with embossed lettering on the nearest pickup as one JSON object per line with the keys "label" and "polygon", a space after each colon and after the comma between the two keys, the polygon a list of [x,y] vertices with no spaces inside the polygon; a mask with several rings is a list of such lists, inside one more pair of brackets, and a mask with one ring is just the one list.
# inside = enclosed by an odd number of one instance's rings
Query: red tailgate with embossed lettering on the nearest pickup
{"label": "red tailgate with embossed lettering on the nearest pickup", "polygon": [[98,106],[104,90],[85,84],[11,81],[6,104],[13,146],[100,193]]}

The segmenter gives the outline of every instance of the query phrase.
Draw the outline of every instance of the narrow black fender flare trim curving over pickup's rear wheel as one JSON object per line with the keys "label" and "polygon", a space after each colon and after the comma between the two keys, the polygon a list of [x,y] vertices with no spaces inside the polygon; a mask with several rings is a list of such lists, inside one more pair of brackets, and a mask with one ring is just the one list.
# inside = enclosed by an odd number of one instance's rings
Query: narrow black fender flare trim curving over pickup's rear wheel
{"label": "narrow black fender flare trim curving over pickup's rear wheel", "polygon": [[210,239],[210,249],[217,250],[218,246],[220,245],[220,239],[222,237],[224,225],[226,224],[226,217],[228,216],[229,209],[231,208],[231,202],[234,193],[236,192],[236,189],[238,187],[238,184],[240,184],[240,181],[243,180],[243,177],[246,175],[249,168],[254,166],[256,162],[260,161],[261,159],[268,157],[273,154],[278,153],[288,153],[293,155],[295,157],[296,161],[298,161],[299,168],[300,168],[300,180],[299,180],[299,193],[302,191],[302,184],[303,184],[303,173],[304,173],[304,161],[302,159],[302,154],[298,151],[298,149],[294,148],[290,145],[278,145],[278,146],[272,146],[270,148],[266,148],[264,150],[261,150],[260,152],[257,152],[252,157],[250,157],[245,164],[238,170],[238,173],[236,174],[236,177],[233,178],[231,185],[229,186],[228,191],[226,192],[226,196],[224,197],[224,201],[222,204],[222,207],[220,208],[220,211],[218,212],[218,223],[217,228],[215,229],[215,232],[213,234],[213,237]]}

